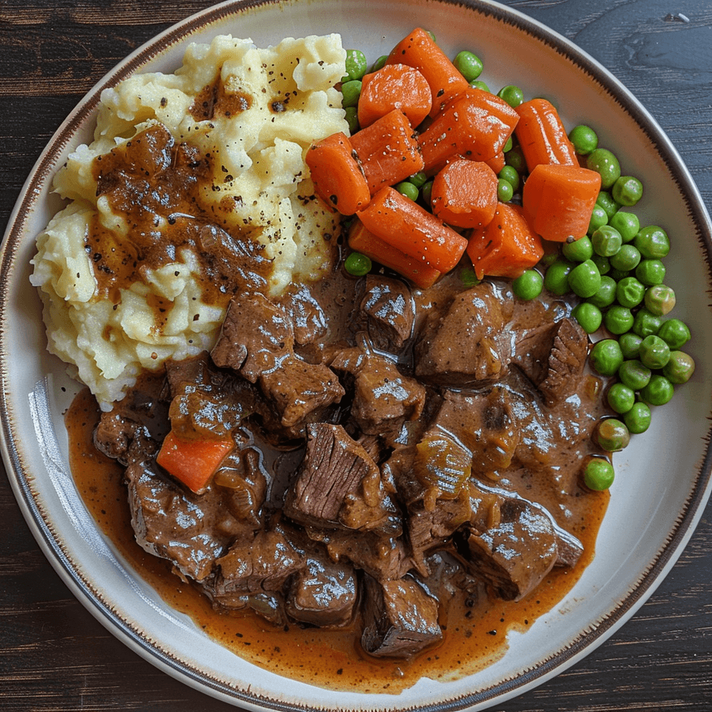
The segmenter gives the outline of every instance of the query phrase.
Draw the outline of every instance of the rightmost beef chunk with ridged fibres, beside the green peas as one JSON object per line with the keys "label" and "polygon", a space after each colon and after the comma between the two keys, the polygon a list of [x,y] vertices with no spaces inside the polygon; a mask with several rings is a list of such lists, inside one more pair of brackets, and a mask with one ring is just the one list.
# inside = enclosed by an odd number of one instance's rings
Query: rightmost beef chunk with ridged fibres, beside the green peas
{"label": "rightmost beef chunk with ridged fibres, beside the green peas", "polygon": [[575,390],[587,355],[587,335],[565,318],[525,332],[515,346],[514,362],[552,405]]}

